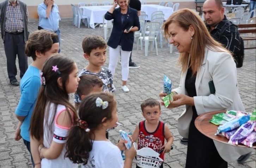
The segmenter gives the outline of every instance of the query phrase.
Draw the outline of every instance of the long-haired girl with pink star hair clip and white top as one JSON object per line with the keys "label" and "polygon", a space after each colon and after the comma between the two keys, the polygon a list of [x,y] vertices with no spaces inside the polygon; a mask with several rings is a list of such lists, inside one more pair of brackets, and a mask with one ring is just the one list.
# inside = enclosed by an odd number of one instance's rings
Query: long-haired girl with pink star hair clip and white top
{"label": "long-haired girl with pink star hair clip and white top", "polygon": [[60,54],[49,57],[43,65],[43,82],[30,124],[32,156],[41,157],[41,168],[77,167],[64,158],[68,130],[78,118],[69,102],[69,94],[77,91],[77,73],[76,63]]}

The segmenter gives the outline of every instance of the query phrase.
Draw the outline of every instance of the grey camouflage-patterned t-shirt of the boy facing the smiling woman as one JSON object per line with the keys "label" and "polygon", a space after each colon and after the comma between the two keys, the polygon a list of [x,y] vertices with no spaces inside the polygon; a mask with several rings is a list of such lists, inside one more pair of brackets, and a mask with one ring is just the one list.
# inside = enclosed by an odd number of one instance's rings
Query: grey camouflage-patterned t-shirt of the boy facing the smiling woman
{"label": "grey camouflage-patterned t-shirt of the boy facing the smiling woman", "polygon": [[[101,66],[101,70],[98,73],[92,73],[86,69],[82,69],[79,72],[78,76],[81,76],[81,75],[96,75],[96,76],[98,76],[103,82],[103,88],[102,88],[103,92],[112,93],[116,90],[116,88],[113,84],[112,73],[108,68],[106,68],[104,66]],[[78,96],[78,94],[76,92],[75,92],[74,102],[75,103],[81,102],[81,98]]]}

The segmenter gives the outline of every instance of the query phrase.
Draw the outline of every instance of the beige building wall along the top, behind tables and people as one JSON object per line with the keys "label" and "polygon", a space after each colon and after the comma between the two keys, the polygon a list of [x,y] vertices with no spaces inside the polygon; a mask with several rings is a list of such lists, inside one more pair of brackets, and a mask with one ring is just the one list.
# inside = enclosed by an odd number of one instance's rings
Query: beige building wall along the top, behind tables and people
{"label": "beige building wall along the top, behind tables and people", "polygon": [[[43,0],[22,0],[28,6],[29,18],[37,19],[37,6],[43,2]],[[111,0],[54,0],[54,3],[58,5],[61,18],[71,18],[73,15],[71,4],[78,5],[79,2],[86,2],[90,4],[91,2],[99,2],[100,4],[104,1]],[[144,0],[147,4],[159,4],[163,0]],[[181,8],[190,8],[195,9],[194,0],[166,0],[166,2],[179,2],[179,9]]]}

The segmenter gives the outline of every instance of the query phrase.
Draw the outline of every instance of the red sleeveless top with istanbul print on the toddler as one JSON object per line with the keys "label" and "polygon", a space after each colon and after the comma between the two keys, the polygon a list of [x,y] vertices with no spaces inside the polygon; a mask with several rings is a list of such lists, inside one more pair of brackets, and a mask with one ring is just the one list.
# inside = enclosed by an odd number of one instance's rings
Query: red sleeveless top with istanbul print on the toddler
{"label": "red sleeveless top with istanbul print on the toddler", "polygon": [[[159,121],[157,129],[153,133],[149,133],[146,130],[145,121],[139,123],[138,149],[146,147],[158,152],[164,145],[164,123]],[[164,160],[164,153],[162,152],[159,157]]]}

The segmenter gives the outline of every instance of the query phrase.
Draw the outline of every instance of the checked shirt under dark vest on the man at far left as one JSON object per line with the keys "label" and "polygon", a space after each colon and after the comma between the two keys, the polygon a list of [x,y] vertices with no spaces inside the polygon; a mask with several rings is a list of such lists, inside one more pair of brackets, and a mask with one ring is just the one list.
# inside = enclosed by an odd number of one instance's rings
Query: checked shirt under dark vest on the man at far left
{"label": "checked shirt under dark vest on the man at far left", "polygon": [[[1,10],[0,10],[1,18]],[[26,9],[26,22],[29,21],[28,9]],[[0,20],[1,22],[1,20]],[[20,11],[19,1],[17,0],[16,5],[12,5],[9,1],[6,8],[6,23],[5,31],[8,33],[19,33],[24,31],[22,13]]]}

